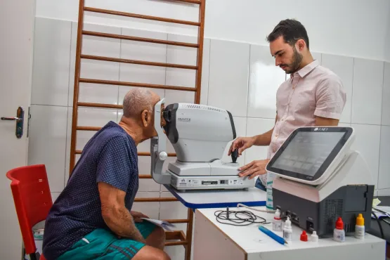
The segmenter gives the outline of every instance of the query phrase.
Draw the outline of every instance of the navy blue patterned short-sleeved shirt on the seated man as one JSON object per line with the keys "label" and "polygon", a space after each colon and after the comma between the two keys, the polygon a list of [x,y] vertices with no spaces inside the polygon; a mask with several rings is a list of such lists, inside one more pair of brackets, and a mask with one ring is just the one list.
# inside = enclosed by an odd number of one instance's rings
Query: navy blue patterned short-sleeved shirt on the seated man
{"label": "navy blue patterned short-sleeved shirt on the seated man", "polygon": [[101,214],[98,182],[126,192],[131,210],[138,190],[138,155],[134,140],[115,122],[108,122],[85,145],[67,186],[46,218],[43,253],[57,259],[93,230],[109,230]]}

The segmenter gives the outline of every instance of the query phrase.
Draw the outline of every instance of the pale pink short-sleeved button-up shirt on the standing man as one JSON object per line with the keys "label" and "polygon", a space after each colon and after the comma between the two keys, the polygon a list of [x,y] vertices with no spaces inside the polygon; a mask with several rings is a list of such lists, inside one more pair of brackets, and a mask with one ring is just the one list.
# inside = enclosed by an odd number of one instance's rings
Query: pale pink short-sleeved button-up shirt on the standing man
{"label": "pale pink short-sleeved button-up shirt on the standing man", "polygon": [[[268,159],[299,126],[314,126],[315,116],[340,119],[346,93],[341,79],[317,60],[290,74],[276,93],[278,118],[273,129]],[[265,176],[264,183],[265,183]]]}

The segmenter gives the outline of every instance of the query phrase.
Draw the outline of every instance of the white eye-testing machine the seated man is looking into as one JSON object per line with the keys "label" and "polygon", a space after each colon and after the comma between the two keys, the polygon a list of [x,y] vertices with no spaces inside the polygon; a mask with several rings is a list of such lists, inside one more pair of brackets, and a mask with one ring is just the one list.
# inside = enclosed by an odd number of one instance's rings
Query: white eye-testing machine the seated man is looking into
{"label": "white eye-testing machine the seated man is looking into", "polygon": [[[207,105],[174,103],[162,110],[164,98],[155,105],[155,129],[150,141],[152,178],[177,190],[247,189],[254,180],[238,176],[240,165],[221,160],[226,145],[235,135],[233,117],[227,110]],[[166,125],[160,127],[161,115]],[[176,152],[176,161],[167,159],[167,137]]]}

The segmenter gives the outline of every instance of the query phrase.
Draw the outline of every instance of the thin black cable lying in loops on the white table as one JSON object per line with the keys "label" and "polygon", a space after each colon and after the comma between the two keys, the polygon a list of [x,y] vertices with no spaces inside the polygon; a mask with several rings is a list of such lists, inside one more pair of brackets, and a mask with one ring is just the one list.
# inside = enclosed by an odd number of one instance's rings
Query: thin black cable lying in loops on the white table
{"label": "thin black cable lying in loops on the white table", "polygon": [[[235,212],[227,208],[226,210],[217,210],[216,212],[214,212],[214,216],[216,216],[216,221],[218,221],[219,223],[228,224],[232,226],[249,226],[252,223],[269,223],[261,216],[257,216],[253,214],[253,212],[249,212],[246,210]],[[259,221],[257,221],[257,219],[259,219]]]}

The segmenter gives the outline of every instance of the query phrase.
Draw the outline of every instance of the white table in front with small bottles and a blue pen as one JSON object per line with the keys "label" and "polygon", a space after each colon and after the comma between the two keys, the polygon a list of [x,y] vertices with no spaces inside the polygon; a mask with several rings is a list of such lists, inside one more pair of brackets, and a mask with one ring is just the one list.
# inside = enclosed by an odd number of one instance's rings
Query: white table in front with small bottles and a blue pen
{"label": "white table in front with small bottles and a blue pen", "polygon": [[[265,209],[265,207],[261,207]],[[299,240],[301,228],[292,225],[292,242],[280,245],[262,233],[259,224],[230,226],[216,221],[214,212],[221,209],[199,209],[195,215],[194,260],[348,260],[386,259],[386,241],[368,233],[364,240],[347,236],[345,242],[323,238],[315,242]],[[230,210],[248,210],[240,207]],[[272,222],[273,214],[252,211]],[[272,230],[272,224],[266,224]],[[282,236],[282,232],[275,232]],[[310,235],[308,234],[310,240]]]}

